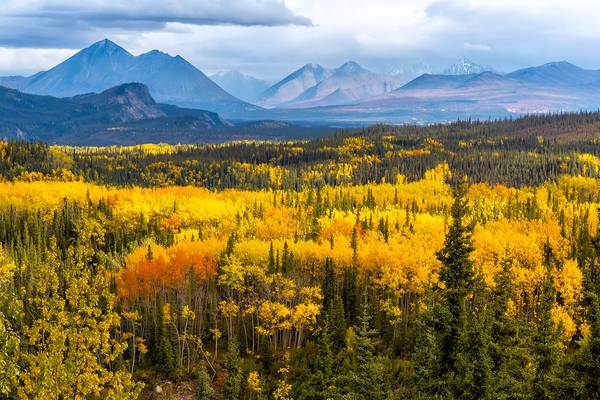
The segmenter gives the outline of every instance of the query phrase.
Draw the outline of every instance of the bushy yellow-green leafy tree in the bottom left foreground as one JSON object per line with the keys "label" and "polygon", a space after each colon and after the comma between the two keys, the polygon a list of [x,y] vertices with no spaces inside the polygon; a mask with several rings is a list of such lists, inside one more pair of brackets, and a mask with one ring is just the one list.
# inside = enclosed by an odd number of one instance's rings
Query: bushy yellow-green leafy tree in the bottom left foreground
{"label": "bushy yellow-green leafy tree in the bottom left foreground", "polygon": [[[87,234],[84,227],[81,235]],[[65,260],[55,246],[38,270],[29,296],[31,322],[24,327],[18,395],[22,399],[137,398],[140,387],[128,371],[115,368],[127,348],[118,337],[110,276],[92,261],[84,241]]]}

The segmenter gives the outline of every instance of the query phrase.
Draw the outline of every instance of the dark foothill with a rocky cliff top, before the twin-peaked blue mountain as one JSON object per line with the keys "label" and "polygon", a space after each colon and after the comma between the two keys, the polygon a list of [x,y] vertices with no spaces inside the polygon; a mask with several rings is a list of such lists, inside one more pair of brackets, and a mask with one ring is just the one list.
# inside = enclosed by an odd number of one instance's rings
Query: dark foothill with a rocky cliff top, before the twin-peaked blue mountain
{"label": "dark foothill with a rocky cliff top, before the twin-peaked blue mountain", "polygon": [[[0,87],[0,136],[62,143],[89,143],[94,136],[127,135],[139,124],[175,135],[230,126],[218,114],[154,101],[148,88],[129,83],[100,94],[56,98]],[[143,129],[142,129],[143,131]]]}

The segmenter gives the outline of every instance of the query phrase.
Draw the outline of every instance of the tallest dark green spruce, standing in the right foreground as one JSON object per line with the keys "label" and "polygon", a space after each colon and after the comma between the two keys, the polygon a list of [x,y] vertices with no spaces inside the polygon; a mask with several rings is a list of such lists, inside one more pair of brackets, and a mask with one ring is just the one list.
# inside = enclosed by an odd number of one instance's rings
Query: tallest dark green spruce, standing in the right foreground
{"label": "tallest dark green spruce, standing in the right foreground", "polygon": [[474,312],[476,280],[470,258],[474,226],[467,222],[466,194],[466,182],[459,180],[452,223],[437,253],[442,264],[440,298],[417,325],[414,378],[425,398],[478,399],[488,392],[489,339],[485,321]]}

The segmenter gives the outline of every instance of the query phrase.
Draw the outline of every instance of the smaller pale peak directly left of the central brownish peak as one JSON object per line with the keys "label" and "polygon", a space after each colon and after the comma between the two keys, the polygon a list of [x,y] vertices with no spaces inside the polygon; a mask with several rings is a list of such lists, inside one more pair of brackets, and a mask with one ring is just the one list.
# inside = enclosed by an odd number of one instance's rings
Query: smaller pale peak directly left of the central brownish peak
{"label": "smaller pale peak directly left of the central brownish peak", "polygon": [[257,99],[257,104],[264,107],[276,107],[292,101],[306,90],[330,77],[332,73],[333,71],[323,68],[319,64],[306,64],[265,90]]}

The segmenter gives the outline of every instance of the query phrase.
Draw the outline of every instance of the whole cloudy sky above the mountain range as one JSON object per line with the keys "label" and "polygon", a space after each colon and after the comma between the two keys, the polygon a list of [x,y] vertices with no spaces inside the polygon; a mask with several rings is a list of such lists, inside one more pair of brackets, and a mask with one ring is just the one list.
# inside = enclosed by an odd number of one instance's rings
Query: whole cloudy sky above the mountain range
{"label": "whole cloudy sky above the mountain range", "polygon": [[498,71],[549,61],[600,69],[597,0],[0,0],[0,75],[48,69],[109,38],[206,73],[277,80],[306,63]]}

